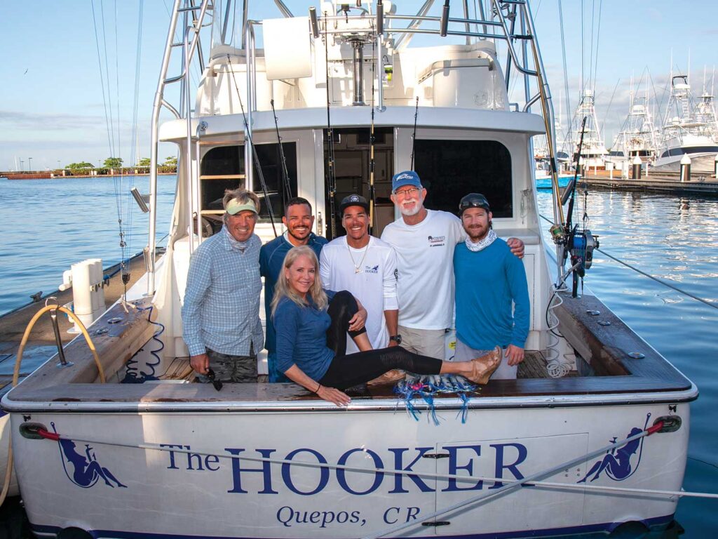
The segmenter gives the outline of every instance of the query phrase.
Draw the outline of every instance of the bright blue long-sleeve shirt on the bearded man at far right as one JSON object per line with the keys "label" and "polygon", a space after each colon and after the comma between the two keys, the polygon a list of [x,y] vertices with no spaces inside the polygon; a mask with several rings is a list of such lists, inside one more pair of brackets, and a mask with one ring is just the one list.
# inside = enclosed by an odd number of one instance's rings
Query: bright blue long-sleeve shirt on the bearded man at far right
{"label": "bright blue long-sleeve shirt on the bearded man at far right", "polygon": [[531,313],[526,270],[506,242],[497,238],[478,252],[458,244],[454,275],[457,337],[477,350],[509,344],[523,348]]}

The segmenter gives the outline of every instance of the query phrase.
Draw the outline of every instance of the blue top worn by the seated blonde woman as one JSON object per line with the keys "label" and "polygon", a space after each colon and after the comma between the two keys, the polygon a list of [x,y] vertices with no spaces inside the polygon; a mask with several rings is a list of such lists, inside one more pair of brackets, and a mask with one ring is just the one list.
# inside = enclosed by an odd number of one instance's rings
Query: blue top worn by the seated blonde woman
{"label": "blue top worn by the seated blonde woman", "polygon": [[[325,290],[331,300],[335,292]],[[334,359],[334,351],[327,348],[327,329],[332,320],[327,309],[319,310],[307,296],[301,306],[289,298],[281,298],[274,313],[276,328],[276,367],[286,372],[297,365],[304,374],[320,380]]]}

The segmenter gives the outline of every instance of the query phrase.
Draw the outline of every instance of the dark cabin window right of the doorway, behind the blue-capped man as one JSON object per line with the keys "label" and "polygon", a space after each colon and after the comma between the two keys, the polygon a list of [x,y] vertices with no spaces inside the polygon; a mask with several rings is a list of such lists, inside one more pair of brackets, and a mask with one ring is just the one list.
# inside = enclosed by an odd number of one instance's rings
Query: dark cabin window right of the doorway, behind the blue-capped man
{"label": "dark cabin window right of the doorway, behind the blue-capped man", "polygon": [[455,214],[462,196],[482,193],[495,218],[513,217],[511,155],[498,141],[417,139],[414,168],[426,208]]}

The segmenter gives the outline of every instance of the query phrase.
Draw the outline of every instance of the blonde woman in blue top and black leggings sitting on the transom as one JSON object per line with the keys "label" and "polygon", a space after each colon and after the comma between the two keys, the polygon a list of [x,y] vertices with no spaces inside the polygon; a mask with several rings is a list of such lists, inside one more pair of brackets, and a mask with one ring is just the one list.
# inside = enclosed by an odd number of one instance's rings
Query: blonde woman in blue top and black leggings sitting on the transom
{"label": "blonde woman in blue top and black leggings sitting on the transom", "polygon": [[337,406],[350,402],[341,390],[391,369],[461,374],[485,384],[500,364],[500,350],[457,363],[413,354],[398,346],[372,350],[364,328],[349,332],[361,351],[345,355],[349,320],[358,309],[356,300],[346,291],[322,290],[317,256],[309,247],[293,247],[284,258],[283,270],[271,303],[277,367],[292,381]]}

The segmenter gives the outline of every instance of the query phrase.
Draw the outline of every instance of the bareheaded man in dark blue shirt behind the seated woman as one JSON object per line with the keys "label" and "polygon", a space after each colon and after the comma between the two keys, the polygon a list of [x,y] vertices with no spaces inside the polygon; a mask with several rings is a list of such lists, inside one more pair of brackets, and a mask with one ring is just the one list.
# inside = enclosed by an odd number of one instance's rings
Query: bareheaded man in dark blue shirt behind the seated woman
{"label": "bareheaded man in dark blue shirt behind the seated woman", "polygon": [[259,253],[259,268],[264,277],[264,311],[266,313],[266,341],[267,364],[269,367],[269,382],[292,382],[276,368],[276,330],[271,321],[271,300],[274,298],[274,285],[279,278],[284,257],[289,249],[298,245],[308,245],[320,257],[322,247],[327,239],[312,232],[314,216],[312,205],[306,198],[290,198],[284,207],[284,216],[281,222],[286,226],[286,232],[272,241],[268,241]]}

